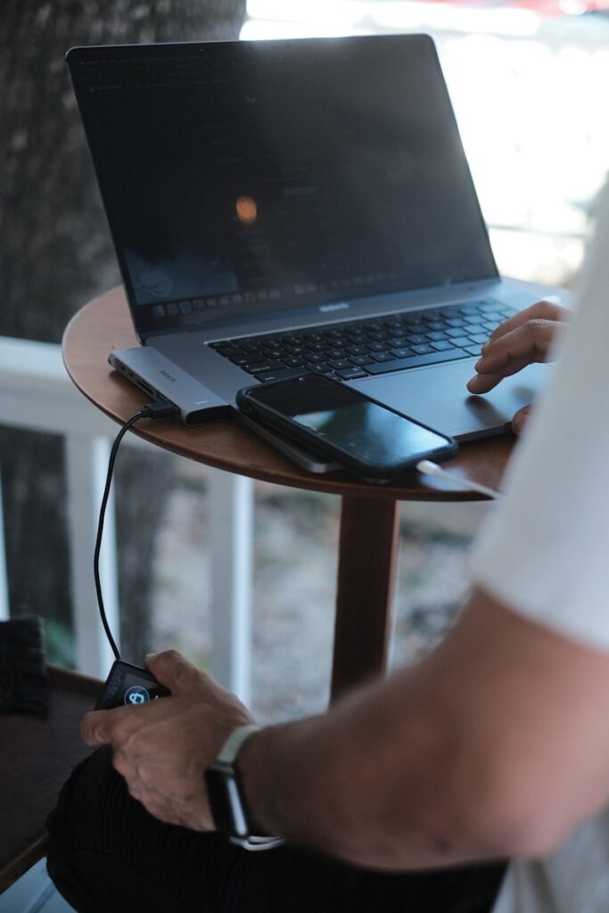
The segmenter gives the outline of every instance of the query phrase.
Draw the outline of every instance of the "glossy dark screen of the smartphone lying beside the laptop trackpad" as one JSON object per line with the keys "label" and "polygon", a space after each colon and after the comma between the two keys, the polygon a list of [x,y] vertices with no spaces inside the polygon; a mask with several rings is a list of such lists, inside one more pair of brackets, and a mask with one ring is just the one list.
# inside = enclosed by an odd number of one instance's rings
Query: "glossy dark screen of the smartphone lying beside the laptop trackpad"
{"label": "glossy dark screen of the smartphone lying beside the laptop trackpad", "polygon": [[257,387],[249,396],[310,429],[323,441],[379,467],[423,458],[447,444],[445,437],[404,415],[314,375]]}

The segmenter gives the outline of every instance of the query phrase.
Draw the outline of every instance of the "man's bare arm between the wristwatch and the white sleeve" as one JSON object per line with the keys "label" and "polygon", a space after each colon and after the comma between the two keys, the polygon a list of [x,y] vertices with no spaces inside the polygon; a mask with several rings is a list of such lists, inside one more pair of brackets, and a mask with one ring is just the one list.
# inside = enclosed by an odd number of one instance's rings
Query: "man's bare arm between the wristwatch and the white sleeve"
{"label": "man's bare arm between the wristwatch and the white sleeve", "polygon": [[546,853],[607,801],[607,682],[604,655],[476,590],[422,663],[248,741],[247,800],[268,833],[362,865]]}

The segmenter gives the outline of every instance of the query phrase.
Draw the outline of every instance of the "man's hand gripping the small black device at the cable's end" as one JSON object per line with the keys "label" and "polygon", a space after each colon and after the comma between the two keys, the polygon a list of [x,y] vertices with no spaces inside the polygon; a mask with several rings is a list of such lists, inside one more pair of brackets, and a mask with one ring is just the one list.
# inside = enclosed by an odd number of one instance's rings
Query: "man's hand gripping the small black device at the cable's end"
{"label": "man's hand gripping the small black device at the cable's end", "polygon": [[235,695],[174,650],[147,657],[146,665],[172,696],[88,713],[80,735],[88,745],[110,743],[129,792],[156,818],[212,830],[205,768],[233,729],[252,717]]}

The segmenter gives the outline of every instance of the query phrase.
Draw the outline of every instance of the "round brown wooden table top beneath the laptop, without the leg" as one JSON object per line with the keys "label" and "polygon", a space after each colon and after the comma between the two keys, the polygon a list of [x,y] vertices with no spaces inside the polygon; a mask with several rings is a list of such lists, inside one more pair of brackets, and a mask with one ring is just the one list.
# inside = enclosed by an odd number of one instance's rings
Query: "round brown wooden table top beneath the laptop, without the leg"
{"label": "round brown wooden table top beneath the laptop, without the leg", "polygon": [[[119,423],[134,415],[147,400],[145,394],[110,368],[108,354],[113,349],[137,344],[121,288],[111,289],[79,310],[64,334],[64,362],[72,381],[91,403]],[[155,422],[142,419],[132,431],[179,456],[291,488],[356,498],[445,501],[483,498],[475,492],[453,488],[441,479],[419,481],[416,472],[404,477],[400,485],[371,485],[343,471],[313,475],[233,418],[193,428],[173,418]],[[457,457],[446,462],[445,467],[488,488],[499,488],[512,445],[513,438],[509,435],[462,444]]]}

